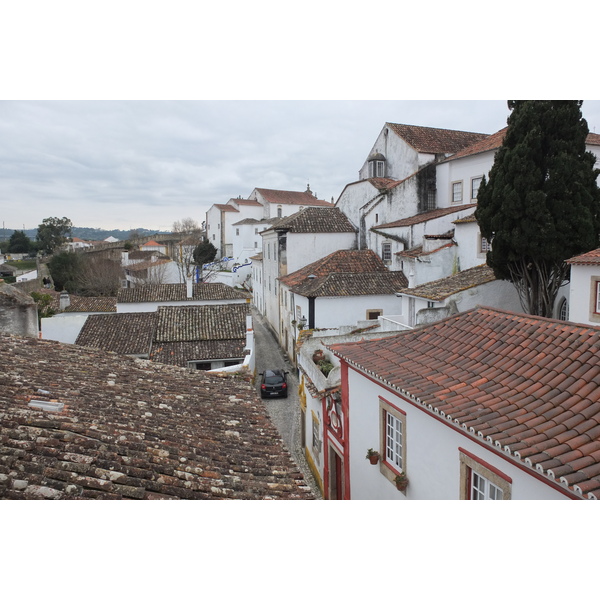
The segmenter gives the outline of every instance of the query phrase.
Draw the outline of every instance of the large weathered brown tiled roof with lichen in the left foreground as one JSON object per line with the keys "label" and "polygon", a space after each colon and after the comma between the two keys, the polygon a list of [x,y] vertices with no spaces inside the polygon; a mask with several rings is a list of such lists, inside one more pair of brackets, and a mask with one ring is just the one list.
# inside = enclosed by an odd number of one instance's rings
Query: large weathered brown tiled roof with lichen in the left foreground
{"label": "large weathered brown tiled roof with lichen in the left foreground", "polygon": [[[64,407],[31,408],[34,399]],[[250,382],[3,336],[0,498],[312,494]]]}

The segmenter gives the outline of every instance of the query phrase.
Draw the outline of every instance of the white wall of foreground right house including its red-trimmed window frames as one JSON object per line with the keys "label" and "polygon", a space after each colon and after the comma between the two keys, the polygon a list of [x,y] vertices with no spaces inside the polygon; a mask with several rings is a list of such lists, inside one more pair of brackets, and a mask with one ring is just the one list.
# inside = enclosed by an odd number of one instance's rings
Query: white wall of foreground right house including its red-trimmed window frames
{"label": "white wall of foreground right house including its red-trimmed window frames", "polygon": [[[566,499],[547,485],[543,477],[538,479],[512,463],[501,449],[494,450],[487,442],[474,439],[462,428],[416,406],[369,376],[349,368],[347,382],[348,396],[344,401],[348,402],[349,415],[351,499],[459,500],[464,497],[462,490],[467,485],[466,467],[498,487],[504,499]],[[382,440],[387,439],[387,434],[383,415],[388,413],[396,419],[392,431],[403,420],[401,450],[394,453],[403,453],[402,467],[409,479],[405,493],[396,488],[393,478],[385,472],[386,447]],[[379,464],[371,465],[366,460],[369,448],[380,452],[383,463],[380,460]],[[465,457],[473,462],[468,463]],[[389,468],[393,473],[392,465]],[[502,487],[506,483],[508,490]],[[483,481],[478,485],[484,485]],[[488,488],[484,493],[497,492]]]}

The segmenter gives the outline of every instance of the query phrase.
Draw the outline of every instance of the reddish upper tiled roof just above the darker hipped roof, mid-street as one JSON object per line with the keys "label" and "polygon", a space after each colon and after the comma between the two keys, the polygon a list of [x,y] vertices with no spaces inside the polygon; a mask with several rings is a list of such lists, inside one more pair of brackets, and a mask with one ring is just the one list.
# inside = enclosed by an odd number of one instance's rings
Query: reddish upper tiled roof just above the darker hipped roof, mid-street
{"label": "reddish upper tiled roof just above the darker hipped roof, mid-street", "polygon": [[309,276],[325,277],[331,273],[387,273],[388,269],[373,250],[336,250],[293,273],[280,277],[289,287],[303,283]]}

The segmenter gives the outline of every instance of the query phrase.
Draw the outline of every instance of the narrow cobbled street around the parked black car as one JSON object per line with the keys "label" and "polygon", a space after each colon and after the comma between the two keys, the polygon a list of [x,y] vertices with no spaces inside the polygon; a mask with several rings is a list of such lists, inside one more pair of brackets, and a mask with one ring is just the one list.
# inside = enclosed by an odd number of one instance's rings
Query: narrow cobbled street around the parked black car
{"label": "narrow cobbled street around the parked black car", "polygon": [[317,498],[321,492],[317,487],[314,477],[308,468],[304,457],[304,450],[300,440],[300,406],[298,404],[298,375],[296,368],[289,362],[281,350],[270,327],[256,310],[252,310],[254,326],[254,344],[256,351],[256,388],[260,396],[260,377],[265,369],[283,369],[288,372],[288,397],[264,398],[267,411],[277,427],[284,444],[292,455],[294,461],[304,474],[306,482],[310,485]]}

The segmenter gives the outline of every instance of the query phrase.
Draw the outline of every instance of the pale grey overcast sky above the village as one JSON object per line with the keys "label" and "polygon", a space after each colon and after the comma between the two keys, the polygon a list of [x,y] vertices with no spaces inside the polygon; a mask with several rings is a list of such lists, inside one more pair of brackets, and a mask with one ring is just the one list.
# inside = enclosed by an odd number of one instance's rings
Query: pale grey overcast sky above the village
{"label": "pale grey overcast sky above the village", "polygon": [[[584,102],[600,132],[600,102]],[[337,200],[386,121],[494,133],[506,101],[2,101],[2,225],[170,230],[255,187]]]}

